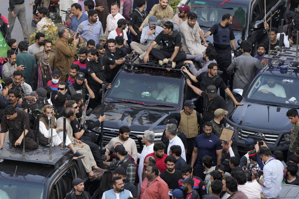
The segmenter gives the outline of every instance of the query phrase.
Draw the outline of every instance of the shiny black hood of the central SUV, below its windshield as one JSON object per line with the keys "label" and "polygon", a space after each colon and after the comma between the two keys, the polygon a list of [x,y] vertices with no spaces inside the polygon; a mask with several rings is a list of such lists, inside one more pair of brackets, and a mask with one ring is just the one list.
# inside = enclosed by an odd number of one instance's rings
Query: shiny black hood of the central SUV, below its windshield
{"label": "shiny black hood of the central SUV, below its windshield", "polygon": [[[99,116],[102,112],[99,106],[93,114]],[[161,107],[142,107],[139,105],[128,105],[108,103],[104,109],[106,115],[104,127],[119,128],[123,125],[130,127],[132,131],[164,130],[164,121],[173,118],[178,109],[164,109]]]}

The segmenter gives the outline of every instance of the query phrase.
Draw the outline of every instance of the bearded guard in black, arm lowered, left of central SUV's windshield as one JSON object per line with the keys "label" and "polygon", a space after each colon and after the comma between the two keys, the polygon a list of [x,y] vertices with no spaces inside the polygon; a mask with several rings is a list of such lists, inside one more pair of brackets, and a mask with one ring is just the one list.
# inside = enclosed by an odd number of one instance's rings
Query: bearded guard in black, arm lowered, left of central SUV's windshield
{"label": "bearded guard in black, arm lowered, left of central SUV's windshield", "polygon": [[88,82],[95,95],[94,99],[90,99],[89,107],[94,109],[101,101],[99,90],[102,88],[102,85],[105,85],[106,89],[111,88],[111,84],[106,82],[106,80],[112,77],[110,65],[113,65],[115,60],[99,56],[97,49],[89,49],[87,57],[89,58],[89,62],[86,64]]}

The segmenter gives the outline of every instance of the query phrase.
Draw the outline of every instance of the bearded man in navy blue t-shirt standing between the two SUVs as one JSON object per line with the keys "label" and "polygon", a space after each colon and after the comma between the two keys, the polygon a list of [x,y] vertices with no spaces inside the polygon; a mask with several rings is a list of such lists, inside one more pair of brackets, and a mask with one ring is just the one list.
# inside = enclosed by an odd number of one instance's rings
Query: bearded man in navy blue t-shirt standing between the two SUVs
{"label": "bearded man in navy blue t-shirt standing between the two SUVs", "polygon": [[202,158],[205,155],[210,156],[213,159],[213,165],[216,166],[221,164],[222,146],[221,141],[218,137],[212,133],[213,124],[211,122],[205,122],[203,124],[204,133],[198,135],[195,138],[194,148],[191,158],[191,166],[196,162],[193,174],[202,179],[205,179],[205,168],[202,164]]}

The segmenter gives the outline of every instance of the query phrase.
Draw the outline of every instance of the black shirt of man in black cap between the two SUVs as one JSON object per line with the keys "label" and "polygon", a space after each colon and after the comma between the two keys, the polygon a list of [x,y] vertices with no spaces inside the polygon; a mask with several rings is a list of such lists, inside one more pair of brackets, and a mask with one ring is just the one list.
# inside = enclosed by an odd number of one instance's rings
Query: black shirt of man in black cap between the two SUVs
{"label": "black shirt of man in black cap between the two SUVs", "polygon": [[209,97],[206,94],[206,91],[201,93],[203,99],[203,120],[205,122],[211,121],[214,118],[214,111],[216,109],[226,109],[225,108],[225,100],[220,96],[217,95],[214,99],[209,101]]}

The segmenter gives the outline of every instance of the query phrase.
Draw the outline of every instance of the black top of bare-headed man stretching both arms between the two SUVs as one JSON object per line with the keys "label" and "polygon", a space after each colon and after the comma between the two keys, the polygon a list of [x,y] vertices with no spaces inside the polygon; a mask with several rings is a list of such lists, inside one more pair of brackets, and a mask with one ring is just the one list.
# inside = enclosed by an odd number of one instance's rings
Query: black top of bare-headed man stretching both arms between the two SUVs
{"label": "black top of bare-headed man stretching both arms between the two SUVs", "polygon": [[[204,91],[206,90],[207,86],[210,85],[214,85],[216,86],[216,89],[218,90],[218,88],[220,88],[221,90],[225,90],[227,88],[227,86],[225,85],[224,81],[222,80],[221,77],[209,77],[209,75],[207,74],[208,72],[202,72],[199,76],[196,77],[197,81],[199,82],[200,85],[200,90]],[[215,80],[213,81],[213,79],[215,78]],[[204,81],[202,81],[203,79],[206,79],[205,81],[207,83],[204,83]],[[208,85],[206,85],[208,84]]]}

